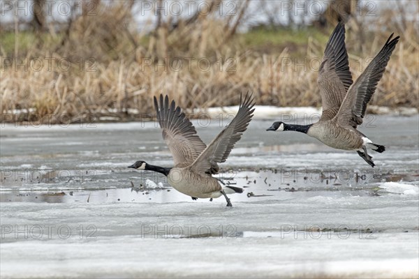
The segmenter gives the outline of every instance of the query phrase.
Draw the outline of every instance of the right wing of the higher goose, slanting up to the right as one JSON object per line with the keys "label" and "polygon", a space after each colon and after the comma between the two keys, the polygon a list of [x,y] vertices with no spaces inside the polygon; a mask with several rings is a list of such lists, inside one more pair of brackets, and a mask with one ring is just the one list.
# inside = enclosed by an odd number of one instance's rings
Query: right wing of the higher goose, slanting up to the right
{"label": "right wing of the higher goose, slanting up to the right", "polygon": [[339,125],[356,127],[362,123],[368,102],[371,100],[378,82],[383,77],[390,56],[399,42],[399,36],[391,40],[392,36],[393,34],[391,34],[380,52],[369,63],[364,73],[358,77],[348,90],[348,94],[346,94],[346,98],[336,115]]}

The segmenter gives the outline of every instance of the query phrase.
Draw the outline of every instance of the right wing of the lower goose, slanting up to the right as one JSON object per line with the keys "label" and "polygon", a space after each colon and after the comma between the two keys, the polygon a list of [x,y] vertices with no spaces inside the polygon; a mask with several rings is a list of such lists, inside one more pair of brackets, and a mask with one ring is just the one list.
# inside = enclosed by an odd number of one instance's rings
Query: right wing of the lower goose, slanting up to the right
{"label": "right wing of the lower goose, slanting up to the right", "polygon": [[200,174],[210,174],[217,163],[223,163],[233,149],[234,144],[240,140],[243,132],[247,129],[251,117],[254,103],[248,94],[240,96],[240,107],[235,118],[224,128],[219,135],[200,153],[200,156],[193,162],[191,169]]}

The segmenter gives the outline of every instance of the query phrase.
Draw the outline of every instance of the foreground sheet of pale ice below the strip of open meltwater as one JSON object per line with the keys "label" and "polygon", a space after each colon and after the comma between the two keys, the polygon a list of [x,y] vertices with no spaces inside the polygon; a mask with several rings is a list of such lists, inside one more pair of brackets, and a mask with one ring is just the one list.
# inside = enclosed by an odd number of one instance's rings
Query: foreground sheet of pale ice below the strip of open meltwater
{"label": "foreground sheet of pale ice below the strip of open meltwater", "polygon": [[231,209],[223,202],[1,204],[2,225],[20,230],[3,232],[1,276],[415,278],[416,206],[417,199],[372,204],[368,197]]}

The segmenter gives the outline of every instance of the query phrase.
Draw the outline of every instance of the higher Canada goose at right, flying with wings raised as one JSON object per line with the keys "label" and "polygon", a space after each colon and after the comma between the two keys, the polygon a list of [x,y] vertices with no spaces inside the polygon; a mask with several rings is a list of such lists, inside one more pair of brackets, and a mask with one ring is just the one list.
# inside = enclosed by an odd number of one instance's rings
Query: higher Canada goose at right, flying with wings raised
{"label": "higher Canada goose at right, flying with wings raised", "polygon": [[356,130],[362,123],[367,104],[383,76],[385,66],[399,41],[399,36],[388,38],[383,48],[353,83],[345,47],[345,27],[339,23],[330,36],[318,71],[323,112],[318,122],[309,125],[291,125],[274,122],[267,130],[293,130],[315,137],[335,149],[355,150],[374,167],[367,147],[379,153],[385,146],[374,144],[366,135]]}

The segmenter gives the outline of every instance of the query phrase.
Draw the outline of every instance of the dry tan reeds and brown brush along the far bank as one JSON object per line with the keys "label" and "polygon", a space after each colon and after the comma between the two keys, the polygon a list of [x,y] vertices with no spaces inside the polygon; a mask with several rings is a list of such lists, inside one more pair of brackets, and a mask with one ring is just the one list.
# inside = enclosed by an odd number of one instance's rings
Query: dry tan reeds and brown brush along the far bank
{"label": "dry tan reeds and brown brush along the far bank", "polygon": [[[15,66],[3,67],[1,121],[43,121],[46,115],[52,122],[62,121],[62,115],[66,121],[68,117],[74,120],[112,114],[132,119],[138,115],[129,114],[129,109],[151,114],[152,96],[160,93],[168,93],[184,108],[234,105],[240,92],[245,91],[253,92],[260,105],[321,106],[316,68],[323,56],[323,42],[307,38],[305,62],[304,57],[291,58],[293,55],[286,47],[279,50],[280,54],[249,51],[240,36],[228,40],[230,30],[210,16],[197,20],[193,28],[181,24],[170,31],[168,26],[163,26],[154,36],[145,37],[133,31],[132,18],[124,6],[115,9],[108,9],[107,17],[94,20],[80,17],[66,35],[61,35],[58,44],[37,45],[24,53],[27,63],[40,56],[70,61],[68,71],[57,63],[52,63],[51,69],[44,66],[39,71],[30,67],[24,70],[22,66],[17,70]],[[405,22],[406,28],[394,30],[390,19],[395,12],[387,13],[387,22],[381,19],[373,24],[376,29],[365,34],[372,40],[363,43],[361,48],[356,45],[359,40],[355,31],[362,19],[347,24],[346,42],[353,78],[362,73],[367,59],[378,52],[390,31],[396,31],[402,38],[370,104],[418,107],[418,27],[414,22]],[[115,14],[119,16],[112,28],[107,20],[100,20]],[[8,54],[1,55],[1,59],[8,57]],[[171,62],[174,57],[179,58],[175,60],[177,63],[166,63],[166,68],[156,66],[157,61]],[[194,58],[190,68],[187,57]],[[204,68],[205,62],[211,61],[210,67],[200,69],[198,59]],[[173,70],[179,61],[183,63],[182,69]],[[302,61],[304,66],[296,64]],[[20,118],[10,117],[10,110],[30,108],[34,112],[22,114]]]}

